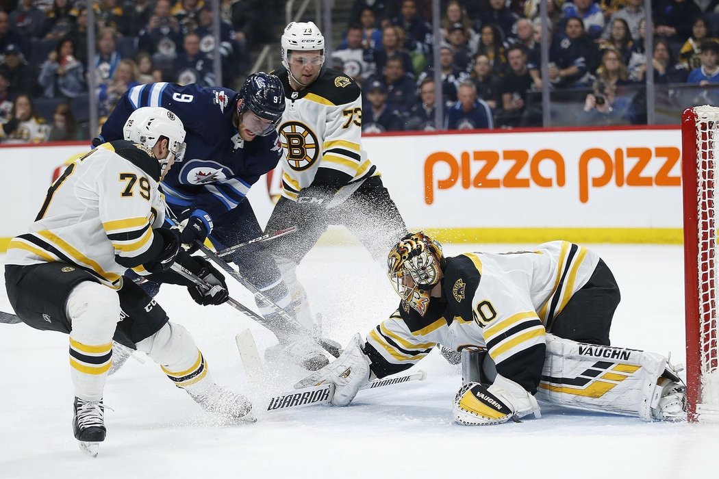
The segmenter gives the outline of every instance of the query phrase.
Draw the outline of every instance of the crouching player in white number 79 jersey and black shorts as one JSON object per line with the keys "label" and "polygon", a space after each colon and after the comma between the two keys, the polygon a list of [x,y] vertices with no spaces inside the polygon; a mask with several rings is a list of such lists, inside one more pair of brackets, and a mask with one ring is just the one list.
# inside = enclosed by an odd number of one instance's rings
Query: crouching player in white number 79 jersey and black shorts
{"label": "crouching player in white number 79 jersey and black shorts", "polygon": [[[228,298],[222,274],[183,251],[178,233],[161,228],[165,202],[158,185],[181,160],[182,122],[165,108],[139,108],[124,136],[65,169],[29,232],[9,243],[5,268],[8,297],[22,321],[70,335],[73,433],[91,455],[106,436],[103,391],[113,341],[147,353],[204,409],[230,419],[251,409],[244,396],[214,383],[189,332],[123,276],[132,268],[183,284],[200,304]],[[214,287],[187,282],[170,270],[175,262]]]}

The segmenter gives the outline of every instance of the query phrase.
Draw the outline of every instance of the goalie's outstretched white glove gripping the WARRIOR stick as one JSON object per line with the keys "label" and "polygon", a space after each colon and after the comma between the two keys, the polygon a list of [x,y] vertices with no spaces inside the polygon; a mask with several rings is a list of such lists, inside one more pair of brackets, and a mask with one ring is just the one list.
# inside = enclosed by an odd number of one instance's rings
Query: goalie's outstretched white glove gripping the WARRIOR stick
{"label": "goalie's outstretched white glove gripping the WARRIOR stick", "polygon": [[362,350],[362,338],[357,333],[339,358],[296,383],[295,389],[334,383],[332,404],[347,406],[357,396],[357,391],[370,382],[371,374],[370,358]]}

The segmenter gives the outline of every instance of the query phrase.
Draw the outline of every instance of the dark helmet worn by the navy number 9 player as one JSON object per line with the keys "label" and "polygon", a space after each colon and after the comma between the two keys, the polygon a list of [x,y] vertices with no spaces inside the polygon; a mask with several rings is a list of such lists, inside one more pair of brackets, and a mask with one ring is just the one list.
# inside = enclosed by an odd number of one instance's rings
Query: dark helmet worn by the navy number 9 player
{"label": "dark helmet worn by the navy number 9 player", "polygon": [[242,88],[239,89],[237,113],[242,118],[242,113],[247,110],[270,122],[265,130],[257,134],[270,134],[270,131],[278,126],[285,112],[285,89],[278,76],[257,72],[244,80]]}

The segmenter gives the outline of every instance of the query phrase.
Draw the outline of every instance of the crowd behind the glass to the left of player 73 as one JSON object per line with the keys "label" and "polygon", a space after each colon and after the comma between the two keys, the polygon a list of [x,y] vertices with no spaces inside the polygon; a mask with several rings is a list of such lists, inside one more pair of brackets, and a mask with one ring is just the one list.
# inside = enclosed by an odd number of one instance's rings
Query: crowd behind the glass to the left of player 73
{"label": "crowd behind the glass to the left of player 73", "polygon": [[[210,0],[97,0],[88,59],[85,0],[0,0],[0,142],[86,139],[89,96],[102,118],[139,83],[237,88],[249,47],[275,41],[267,12],[278,3],[220,0],[215,45]],[[223,78],[215,78],[216,55]]]}

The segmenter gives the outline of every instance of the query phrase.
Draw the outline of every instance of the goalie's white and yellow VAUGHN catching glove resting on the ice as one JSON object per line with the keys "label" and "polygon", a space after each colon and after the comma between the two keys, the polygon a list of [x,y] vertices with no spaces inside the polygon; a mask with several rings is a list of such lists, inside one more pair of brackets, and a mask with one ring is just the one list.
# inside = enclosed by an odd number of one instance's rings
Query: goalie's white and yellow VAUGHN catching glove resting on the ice
{"label": "goalie's white and yellow VAUGHN catching glove resting on the ice", "polygon": [[462,386],[454,397],[452,412],[454,420],[465,426],[501,424],[509,419],[520,422],[520,417],[531,412],[534,417],[541,417],[534,396],[500,374],[489,387],[481,383]]}

